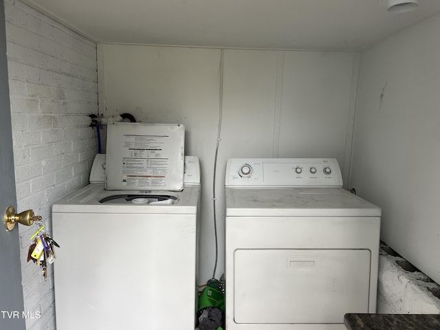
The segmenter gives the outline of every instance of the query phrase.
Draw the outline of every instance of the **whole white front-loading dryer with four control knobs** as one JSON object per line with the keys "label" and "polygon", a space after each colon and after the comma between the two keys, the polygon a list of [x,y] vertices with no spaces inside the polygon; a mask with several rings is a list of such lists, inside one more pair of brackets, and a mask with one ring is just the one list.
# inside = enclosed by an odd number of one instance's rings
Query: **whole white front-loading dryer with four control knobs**
{"label": "whole white front-loading dryer with four control knobs", "polygon": [[375,313],[381,210],[336,159],[229,159],[226,330],[345,329]]}

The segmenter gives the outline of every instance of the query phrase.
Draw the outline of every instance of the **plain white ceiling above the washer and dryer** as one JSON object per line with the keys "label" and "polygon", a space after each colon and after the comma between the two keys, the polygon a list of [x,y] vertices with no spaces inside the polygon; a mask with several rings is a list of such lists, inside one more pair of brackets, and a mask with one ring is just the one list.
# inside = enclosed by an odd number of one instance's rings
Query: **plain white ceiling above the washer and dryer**
{"label": "plain white ceiling above the washer and dryer", "polygon": [[97,43],[362,50],[440,13],[390,14],[387,0],[22,0]]}

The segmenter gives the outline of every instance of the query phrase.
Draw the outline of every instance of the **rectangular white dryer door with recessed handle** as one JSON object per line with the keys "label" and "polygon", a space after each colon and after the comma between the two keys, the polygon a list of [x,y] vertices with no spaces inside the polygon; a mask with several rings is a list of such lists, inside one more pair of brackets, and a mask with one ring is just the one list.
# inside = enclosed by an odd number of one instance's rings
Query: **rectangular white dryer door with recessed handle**
{"label": "rectangular white dryer door with recessed handle", "polygon": [[369,313],[370,265],[366,249],[235,250],[234,322],[329,324]]}

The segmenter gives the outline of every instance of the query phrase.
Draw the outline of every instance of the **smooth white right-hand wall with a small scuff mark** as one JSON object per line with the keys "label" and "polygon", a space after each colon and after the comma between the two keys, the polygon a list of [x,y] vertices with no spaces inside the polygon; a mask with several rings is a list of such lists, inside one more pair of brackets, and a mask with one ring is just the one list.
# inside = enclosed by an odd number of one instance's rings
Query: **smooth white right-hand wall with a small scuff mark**
{"label": "smooth white right-hand wall with a small scuff mark", "polygon": [[382,240],[440,283],[440,17],[362,52],[351,187]]}

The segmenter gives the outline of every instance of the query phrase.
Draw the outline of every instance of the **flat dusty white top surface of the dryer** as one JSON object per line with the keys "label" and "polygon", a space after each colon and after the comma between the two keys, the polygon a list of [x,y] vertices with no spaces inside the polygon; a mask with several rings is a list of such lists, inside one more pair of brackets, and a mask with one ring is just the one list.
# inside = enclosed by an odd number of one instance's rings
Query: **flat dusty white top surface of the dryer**
{"label": "flat dusty white top surface of the dryer", "polygon": [[342,188],[225,188],[228,217],[380,217]]}

